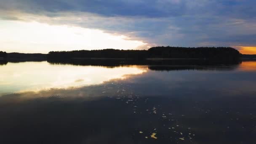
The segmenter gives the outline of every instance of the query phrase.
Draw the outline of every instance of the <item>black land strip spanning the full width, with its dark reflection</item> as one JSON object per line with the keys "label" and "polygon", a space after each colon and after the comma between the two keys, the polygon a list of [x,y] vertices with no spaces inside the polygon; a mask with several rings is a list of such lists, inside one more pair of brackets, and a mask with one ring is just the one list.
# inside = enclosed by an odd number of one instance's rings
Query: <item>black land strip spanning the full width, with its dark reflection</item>
{"label": "black land strip spanning the full width, with its dark reflection", "polygon": [[[171,47],[158,46],[148,50],[79,50],[50,51],[42,53],[6,53],[0,52],[0,59],[8,61],[48,61],[72,62],[83,64],[120,63],[157,64],[156,61],[169,61],[165,64],[194,64],[193,61],[207,61],[216,64],[237,64],[242,59],[252,60],[256,55],[243,55],[230,47]],[[109,62],[110,61],[110,62]],[[171,62],[170,62],[171,61]],[[186,61],[186,62],[184,62]],[[163,62],[161,62],[163,64]],[[203,62],[204,63],[204,62]],[[203,64],[202,63],[202,64]]]}

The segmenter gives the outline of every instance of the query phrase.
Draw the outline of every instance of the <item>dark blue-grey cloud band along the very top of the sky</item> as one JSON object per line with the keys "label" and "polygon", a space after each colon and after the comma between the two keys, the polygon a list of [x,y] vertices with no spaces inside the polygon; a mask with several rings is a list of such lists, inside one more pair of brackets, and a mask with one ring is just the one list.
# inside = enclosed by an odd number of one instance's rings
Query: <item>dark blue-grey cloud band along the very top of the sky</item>
{"label": "dark blue-grey cloud band along the very top of the sky", "polygon": [[[151,18],[212,13],[255,17],[255,0],[0,0],[1,8],[31,13],[82,11],[103,16]],[[54,15],[54,14],[53,14]]]}

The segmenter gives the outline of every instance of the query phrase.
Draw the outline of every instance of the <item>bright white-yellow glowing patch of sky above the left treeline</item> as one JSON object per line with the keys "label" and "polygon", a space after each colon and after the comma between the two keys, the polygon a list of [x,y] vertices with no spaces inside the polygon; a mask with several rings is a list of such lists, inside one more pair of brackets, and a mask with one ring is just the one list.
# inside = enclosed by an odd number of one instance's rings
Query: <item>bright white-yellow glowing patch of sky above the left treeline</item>
{"label": "bright white-yellow glowing patch of sky above the left treeline", "polygon": [[0,20],[1,51],[48,53],[49,51],[93,50],[104,48],[134,49],[146,45],[128,40],[124,35],[111,35],[98,29],[39,22]]}

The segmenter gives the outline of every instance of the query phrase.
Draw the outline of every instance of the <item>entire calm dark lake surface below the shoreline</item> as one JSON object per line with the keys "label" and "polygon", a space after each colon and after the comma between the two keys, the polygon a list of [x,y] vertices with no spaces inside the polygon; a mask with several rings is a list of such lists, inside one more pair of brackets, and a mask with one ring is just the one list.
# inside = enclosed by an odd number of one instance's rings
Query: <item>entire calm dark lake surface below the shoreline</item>
{"label": "entire calm dark lake surface below the shoreline", "polygon": [[0,65],[0,144],[256,144],[256,61]]}

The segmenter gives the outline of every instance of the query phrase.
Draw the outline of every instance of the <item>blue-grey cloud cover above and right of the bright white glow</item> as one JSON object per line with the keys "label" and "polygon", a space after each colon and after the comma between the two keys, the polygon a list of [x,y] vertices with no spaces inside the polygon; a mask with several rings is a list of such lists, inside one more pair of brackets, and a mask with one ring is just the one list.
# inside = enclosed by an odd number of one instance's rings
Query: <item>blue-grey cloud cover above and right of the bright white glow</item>
{"label": "blue-grey cloud cover above and right of the bright white glow", "polygon": [[0,0],[0,18],[102,29],[157,45],[256,45],[255,5],[256,0]]}

